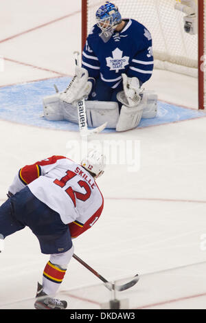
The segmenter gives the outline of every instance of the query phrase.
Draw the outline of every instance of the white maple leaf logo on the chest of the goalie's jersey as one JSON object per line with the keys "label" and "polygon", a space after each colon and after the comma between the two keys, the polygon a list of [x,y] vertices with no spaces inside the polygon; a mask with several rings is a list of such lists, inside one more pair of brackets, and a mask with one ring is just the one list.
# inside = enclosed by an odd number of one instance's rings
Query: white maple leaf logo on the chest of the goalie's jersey
{"label": "white maple leaf logo on the chest of the goalie's jersey", "polygon": [[119,69],[124,69],[128,65],[129,57],[122,57],[123,52],[119,48],[113,50],[112,54],[113,57],[106,58],[106,66],[110,67],[110,71],[118,73]]}

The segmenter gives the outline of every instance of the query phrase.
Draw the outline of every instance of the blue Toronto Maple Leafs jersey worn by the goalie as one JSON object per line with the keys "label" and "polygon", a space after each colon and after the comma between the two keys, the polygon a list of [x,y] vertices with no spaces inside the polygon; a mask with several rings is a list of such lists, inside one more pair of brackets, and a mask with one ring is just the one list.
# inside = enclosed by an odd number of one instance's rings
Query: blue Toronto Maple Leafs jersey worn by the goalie
{"label": "blue Toronto Maple Leafs jersey worn by the goalie", "polygon": [[82,67],[89,77],[101,78],[113,89],[122,81],[122,73],[146,82],[154,64],[150,32],[138,21],[124,21],[124,29],[115,32],[107,43],[100,37],[98,25],[94,25],[82,52]]}

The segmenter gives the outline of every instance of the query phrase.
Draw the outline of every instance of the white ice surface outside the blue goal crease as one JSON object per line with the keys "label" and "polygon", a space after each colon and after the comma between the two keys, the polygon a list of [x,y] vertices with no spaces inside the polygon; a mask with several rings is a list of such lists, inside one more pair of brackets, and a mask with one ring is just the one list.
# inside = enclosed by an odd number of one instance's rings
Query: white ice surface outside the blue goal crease
{"label": "white ice surface outside the blue goal crease", "polygon": [[[0,86],[60,74],[73,75],[72,53],[81,47],[80,2],[32,0],[28,3],[19,0],[17,5],[16,1],[10,0],[6,6],[4,3],[0,18],[5,28],[1,29],[0,41],[67,14],[69,16],[0,43],[1,56],[41,68],[5,60],[5,70],[0,72]],[[155,71],[148,88],[155,89],[161,100],[197,107],[197,80],[194,78]],[[69,155],[67,142],[80,138],[75,132],[39,129],[12,122],[0,121],[0,129],[1,203],[21,166],[50,155]],[[201,118],[128,133],[100,135],[101,140],[139,140],[141,144],[138,172],[129,172],[126,165],[108,164],[105,175],[98,181],[105,197],[104,212],[92,230],[73,241],[76,254],[106,279],[117,280],[137,272],[146,274],[206,261],[206,251],[201,250],[201,235],[206,234],[205,129],[206,119]],[[5,251],[0,256],[0,309],[32,308],[33,301],[21,300],[34,297],[47,260],[30,230],[16,232],[5,239]],[[174,273],[172,271],[171,276]],[[205,270],[190,272],[188,280],[193,284],[189,287],[185,279],[187,267],[181,269],[183,278],[169,278],[169,285],[162,282],[161,274],[156,275],[153,275],[155,283],[159,282],[157,285],[161,287],[158,291],[153,292],[152,278],[143,276],[138,283],[139,290],[136,288],[128,296],[134,299],[137,293],[141,293],[144,302],[136,304],[137,307],[161,302],[159,308],[164,309],[206,309],[205,296],[186,298],[206,289]],[[179,274],[175,275],[179,277]],[[72,259],[60,293],[85,285],[98,285],[99,282]],[[170,300],[170,289],[173,298],[175,284],[178,295],[174,298],[183,300],[181,303],[163,304]],[[104,302],[109,296],[102,289],[105,288],[80,291],[84,298]],[[18,303],[11,304],[16,301]],[[80,299],[76,302],[71,299],[69,308],[97,307]]]}

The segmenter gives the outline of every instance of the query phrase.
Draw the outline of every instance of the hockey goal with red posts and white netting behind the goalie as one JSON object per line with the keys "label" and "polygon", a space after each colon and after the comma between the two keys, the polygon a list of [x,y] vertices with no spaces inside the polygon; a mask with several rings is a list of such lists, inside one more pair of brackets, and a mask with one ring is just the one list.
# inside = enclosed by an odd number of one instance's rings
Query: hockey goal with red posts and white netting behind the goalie
{"label": "hockey goal with red posts and white netting behind the goalie", "polygon": [[[184,30],[185,13],[175,10],[180,0],[115,0],[123,18],[136,19],[152,34],[155,68],[198,78],[199,109],[206,107],[204,55],[206,43],[205,0],[194,2],[196,34]],[[82,0],[82,45],[95,24],[95,12],[105,1]],[[204,8],[205,7],[205,8]]]}

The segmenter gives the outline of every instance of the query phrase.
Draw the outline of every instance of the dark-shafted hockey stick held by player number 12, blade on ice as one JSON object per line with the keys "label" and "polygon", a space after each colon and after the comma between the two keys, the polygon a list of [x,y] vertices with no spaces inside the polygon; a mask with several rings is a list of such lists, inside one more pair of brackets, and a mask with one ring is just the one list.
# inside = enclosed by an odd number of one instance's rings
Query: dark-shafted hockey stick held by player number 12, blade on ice
{"label": "dark-shafted hockey stick held by player number 12, blade on ice", "polygon": [[102,282],[104,282],[106,288],[108,288],[110,291],[112,291],[112,290],[125,291],[126,289],[129,289],[130,287],[133,287],[135,284],[137,284],[137,282],[139,280],[139,275],[137,274],[137,275],[135,275],[133,280],[130,280],[130,282],[126,282],[126,284],[116,286],[115,284],[108,282],[108,280],[106,280],[104,277],[102,277],[100,274],[98,274],[98,272],[95,271],[93,268],[91,268],[89,265],[87,265],[87,263],[84,263],[84,261],[82,259],[80,259],[78,256],[76,256],[76,254],[73,254],[73,258],[78,260],[78,262],[80,264],[82,264],[85,268],[89,269],[89,271],[91,271],[95,276],[100,278],[100,280],[102,280]]}

